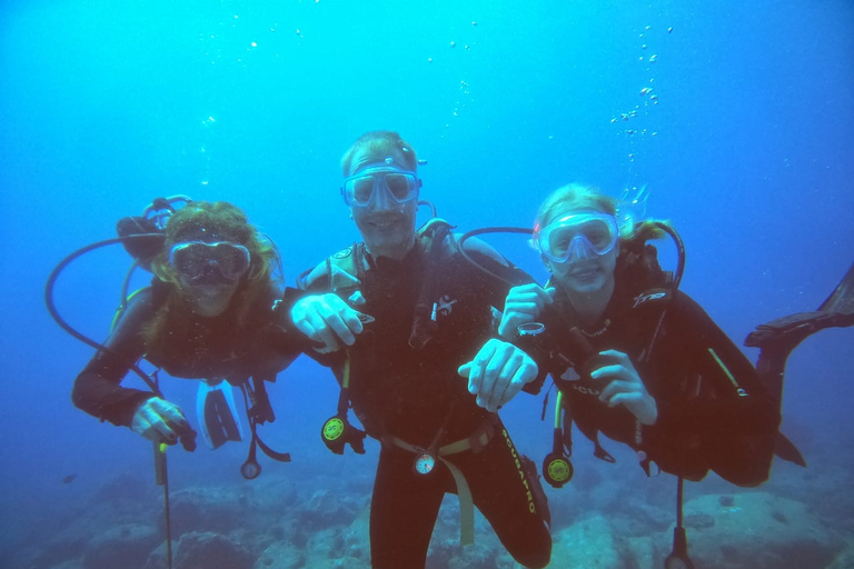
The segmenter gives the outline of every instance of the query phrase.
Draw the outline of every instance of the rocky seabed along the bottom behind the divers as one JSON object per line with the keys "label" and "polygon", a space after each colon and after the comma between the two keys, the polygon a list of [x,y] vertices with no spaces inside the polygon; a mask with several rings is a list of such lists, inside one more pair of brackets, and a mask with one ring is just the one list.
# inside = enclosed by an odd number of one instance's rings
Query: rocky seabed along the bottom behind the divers
{"label": "rocky seabed along the bottom behind the divers", "polygon": [[[771,481],[757,489],[739,489],[715,476],[686,483],[684,520],[695,567],[854,567],[854,495],[848,491],[854,469],[840,460],[828,451],[812,457],[808,469],[777,462]],[[350,475],[341,476],[342,470]],[[369,568],[371,483],[370,468],[329,472],[296,462],[266,463],[264,475],[254,481],[185,483],[175,477],[169,517],[172,567]],[[549,567],[663,567],[672,548],[675,488],[673,477],[646,479],[628,465],[576,465],[570,485],[548,488],[554,537]],[[32,522],[22,517],[21,527],[6,532],[2,567],[165,568],[163,511],[162,488],[152,483],[149,471],[120,472]],[[458,536],[456,497],[447,497],[428,569],[522,567],[479,516],[473,546],[461,548]]]}

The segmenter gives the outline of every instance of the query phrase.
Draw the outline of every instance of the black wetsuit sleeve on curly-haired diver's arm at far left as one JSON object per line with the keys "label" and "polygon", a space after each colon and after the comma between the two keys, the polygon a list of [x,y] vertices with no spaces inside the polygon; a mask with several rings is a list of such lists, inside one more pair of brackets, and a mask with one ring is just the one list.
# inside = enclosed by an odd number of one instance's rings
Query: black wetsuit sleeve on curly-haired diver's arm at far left
{"label": "black wetsuit sleeve on curly-haired diver's arm at far left", "polygon": [[151,289],[143,289],[122,312],[105,342],[107,349],[99,350],[75,380],[71,391],[75,406],[102,421],[130,426],[139,405],[155,397],[150,391],[120,386],[145,352],[140,332],[152,315]]}

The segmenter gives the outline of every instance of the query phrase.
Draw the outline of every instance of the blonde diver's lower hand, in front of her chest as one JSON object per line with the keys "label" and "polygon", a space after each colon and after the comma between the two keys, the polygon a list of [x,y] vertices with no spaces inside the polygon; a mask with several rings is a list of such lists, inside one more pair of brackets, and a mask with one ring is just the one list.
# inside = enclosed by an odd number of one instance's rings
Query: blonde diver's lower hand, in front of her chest
{"label": "blonde diver's lower hand, in front of her chest", "polygon": [[599,401],[608,407],[623,405],[643,425],[654,425],[658,419],[658,406],[628,356],[617,350],[606,350],[599,356],[608,360],[607,365],[590,371],[593,379],[608,381],[599,393]]}

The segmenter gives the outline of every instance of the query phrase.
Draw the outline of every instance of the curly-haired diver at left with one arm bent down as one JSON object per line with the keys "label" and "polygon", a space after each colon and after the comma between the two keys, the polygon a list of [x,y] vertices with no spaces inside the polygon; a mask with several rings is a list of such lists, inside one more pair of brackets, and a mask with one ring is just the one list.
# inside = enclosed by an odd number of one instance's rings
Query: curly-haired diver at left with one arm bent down
{"label": "curly-haired diver at left with one arm bent down", "polygon": [[[251,428],[241,472],[255,478],[260,473],[256,445],[276,460],[289,460],[256,432],[257,425],[275,419],[265,381],[275,381],[300,352],[291,341],[300,340],[299,335],[288,337],[278,325],[279,315],[287,316],[278,307],[288,307],[281,302],[277,278],[279,254],[236,206],[181,197],[177,201],[187,203],[175,209],[175,201],[160,198],[142,217],[119,221],[118,240],[155,278],[123,300],[103,345],[87,342],[98,352],[77,377],[71,397],[78,408],[102,421],[129,427],[156,442],[173,445],[180,439],[192,450],[195,431],[183,411],[162,398],[152,381],[150,390],[121,386],[125,376],[130,370],[139,373],[136,365],[145,358],[170,376],[201,380],[199,423],[211,448],[242,440],[231,389],[238,387]],[[54,279],[48,287],[52,313]]]}

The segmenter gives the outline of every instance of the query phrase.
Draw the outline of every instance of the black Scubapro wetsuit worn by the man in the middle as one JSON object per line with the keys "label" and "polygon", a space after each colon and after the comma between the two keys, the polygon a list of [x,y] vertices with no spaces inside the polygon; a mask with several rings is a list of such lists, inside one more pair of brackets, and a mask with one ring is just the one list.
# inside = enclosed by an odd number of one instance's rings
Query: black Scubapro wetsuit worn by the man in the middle
{"label": "black Scubapro wetsuit worn by the man in the middle", "polygon": [[[365,325],[349,348],[349,396],[368,435],[383,442],[370,509],[371,565],[377,569],[423,568],[443,497],[457,493],[441,460],[428,476],[413,470],[416,455],[401,446],[428,449],[487,433],[484,448],[444,457],[465,476],[475,506],[520,563],[548,563],[548,509],[536,469],[517,452],[500,419],[476,405],[457,368],[496,335],[491,306],[502,306],[508,287],[466,262],[449,237],[439,262],[429,264],[419,242],[403,261],[373,259],[356,246],[354,266],[365,303],[358,310],[376,320]],[[347,250],[335,256],[339,261]],[[529,282],[518,269],[483,260],[514,281]],[[317,278],[310,291],[329,290]],[[435,328],[420,349],[410,346],[419,291],[433,287]],[[347,300],[351,290],[339,290]],[[326,362],[342,377],[344,355]]]}

